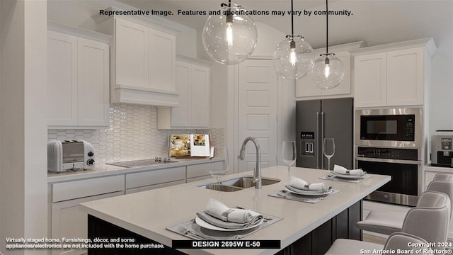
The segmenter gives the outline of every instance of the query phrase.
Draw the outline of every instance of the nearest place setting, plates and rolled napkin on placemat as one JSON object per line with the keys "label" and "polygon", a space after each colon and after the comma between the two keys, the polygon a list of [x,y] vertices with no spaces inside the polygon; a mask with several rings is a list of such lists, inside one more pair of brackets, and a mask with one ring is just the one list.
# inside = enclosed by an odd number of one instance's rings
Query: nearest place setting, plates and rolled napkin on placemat
{"label": "nearest place setting, plates and rolled napkin on placemat", "polygon": [[265,215],[240,206],[229,208],[210,198],[206,209],[197,212],[194,219],[166,229],[197,240],[236,240],[279,220],[282,217]]}

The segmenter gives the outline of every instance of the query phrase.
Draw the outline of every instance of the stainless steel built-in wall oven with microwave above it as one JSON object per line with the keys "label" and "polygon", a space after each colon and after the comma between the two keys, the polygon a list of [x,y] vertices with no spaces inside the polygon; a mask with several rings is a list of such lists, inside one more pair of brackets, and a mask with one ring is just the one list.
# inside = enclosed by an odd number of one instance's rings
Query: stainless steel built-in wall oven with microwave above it
{"label": "stainless steel built-in wall oven with microwave above it", "polygon": [[423,189],[422,147],[422,108],[356,110],[355,166],[391,176],[366,199],[416,205]]}

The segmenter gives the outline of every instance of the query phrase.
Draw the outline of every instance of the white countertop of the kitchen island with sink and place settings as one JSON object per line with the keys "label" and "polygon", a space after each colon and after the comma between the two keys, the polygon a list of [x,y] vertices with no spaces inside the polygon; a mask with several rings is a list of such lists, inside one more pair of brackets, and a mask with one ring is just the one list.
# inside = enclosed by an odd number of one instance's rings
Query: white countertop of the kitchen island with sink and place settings
{"label": "white countertop of the kitchen island with sink and place settings", "polygon": [[[232,174],[224,179],[252,174],[251,171]],[[319,169],[292,168],[291,174],[309,183],[318,183],[319,177],[328,171]],[[166,227],[178,225],[195,217],[195,213],[205,210],[208,198],[215,198],[229,207],[241,206],[256,212],[283,217],[283,220],[260,229],[244,239],[265,240],[280,239],[281,247],[292,244],[297,239],[311,232],[319,225],[330,220],[338,213],[365,198],[384,183],[390,176],[372,175],[360,183],[325,181],[339,193],[321,200],[316,204],[297,202],[268,196],[284,188],[289,183],[287,166],[273,166],[263,169],[264,177],[281,179],[280,183],[263,186],[262,189],[247,188],[235,192],[219,192],[199,188],[214,179],[185,183],[151,191],[132,193],[125,196],[81,203],[80,208],[88,214],[101,218],[114,225],[129,229],[166,246],[171,246],[172,239],[188,239]],[[275,254],[276,249],[241,249],[241,254]],[[234,254],[238,250],[229,249],[185,249],[188,254]]]}

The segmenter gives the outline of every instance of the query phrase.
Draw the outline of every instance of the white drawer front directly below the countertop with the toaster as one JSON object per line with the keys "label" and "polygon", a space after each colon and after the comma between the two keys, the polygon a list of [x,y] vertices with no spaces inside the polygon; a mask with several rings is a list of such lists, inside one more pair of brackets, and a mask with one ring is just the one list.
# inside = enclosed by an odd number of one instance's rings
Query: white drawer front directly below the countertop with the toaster
{"label": "white drawer front directly below the countertop with the toaster", "polygon": [[52,185],[52,202],[124,191],[124,189],[124,175],[54,183]]}

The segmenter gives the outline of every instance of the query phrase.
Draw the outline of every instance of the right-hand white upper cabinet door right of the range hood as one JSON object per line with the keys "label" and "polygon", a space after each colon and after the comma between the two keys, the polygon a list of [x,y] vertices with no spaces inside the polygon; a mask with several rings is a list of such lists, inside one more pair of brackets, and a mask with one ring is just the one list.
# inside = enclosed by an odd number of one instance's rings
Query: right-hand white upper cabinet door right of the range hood
{"label": "right-hand white upper cabinet door right of the range hood", "polygon": [[193,65],[190,69],[190,124],[196,128],[210,126],[210,69]]}

